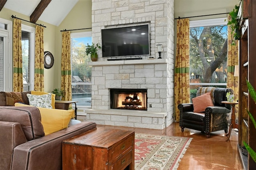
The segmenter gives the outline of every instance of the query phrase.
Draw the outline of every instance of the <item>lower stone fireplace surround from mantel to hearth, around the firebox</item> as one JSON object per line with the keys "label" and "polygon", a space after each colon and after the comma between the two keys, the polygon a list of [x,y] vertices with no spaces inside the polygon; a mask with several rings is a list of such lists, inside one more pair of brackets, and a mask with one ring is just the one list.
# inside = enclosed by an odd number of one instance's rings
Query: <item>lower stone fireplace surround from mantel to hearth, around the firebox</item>
{"label": "lower stone fireplace surround from mantel to hearth, around the firebox", "polygon": [[[87,120],[99,125],[163,129],[173,117],[166,59],[91,62],[92,109]],[[147,89],[147,111],[110,109],[110,89]],[[169,122],[169,123],[168,123]]]}

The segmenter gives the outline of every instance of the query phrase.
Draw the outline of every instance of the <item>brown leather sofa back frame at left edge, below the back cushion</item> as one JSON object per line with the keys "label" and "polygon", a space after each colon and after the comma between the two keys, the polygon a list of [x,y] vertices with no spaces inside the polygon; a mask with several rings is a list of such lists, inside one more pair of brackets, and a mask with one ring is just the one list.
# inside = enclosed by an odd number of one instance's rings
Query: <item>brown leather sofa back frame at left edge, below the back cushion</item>
{"label": "brown leather sofa back frame at left edge, below the back cushion", "polygon": [[10,169],[13,149],[27,142],[20,123],[0,121],[0,169]]}

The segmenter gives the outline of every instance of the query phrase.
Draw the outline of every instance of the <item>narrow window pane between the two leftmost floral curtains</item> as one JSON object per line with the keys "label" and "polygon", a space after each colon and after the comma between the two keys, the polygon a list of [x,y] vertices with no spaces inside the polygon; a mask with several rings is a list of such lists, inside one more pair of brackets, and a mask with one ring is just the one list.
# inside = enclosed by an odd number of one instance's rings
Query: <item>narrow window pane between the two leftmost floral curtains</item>
{"label": "narrow window pane between the two leftmost floral curtains", "polygon": [[30,91],[30,33],[22,31],[23,91]]}

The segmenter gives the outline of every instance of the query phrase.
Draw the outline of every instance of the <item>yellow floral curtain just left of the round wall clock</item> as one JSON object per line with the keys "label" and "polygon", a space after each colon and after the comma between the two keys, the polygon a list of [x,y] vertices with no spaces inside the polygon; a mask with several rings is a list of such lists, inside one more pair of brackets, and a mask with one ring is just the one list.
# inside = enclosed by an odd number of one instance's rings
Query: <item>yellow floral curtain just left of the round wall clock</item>
{"label": "yellow floral curtain just left of the round wall clock", "polygon": [[34,90],[44,91],[44,27],[36,25]]}

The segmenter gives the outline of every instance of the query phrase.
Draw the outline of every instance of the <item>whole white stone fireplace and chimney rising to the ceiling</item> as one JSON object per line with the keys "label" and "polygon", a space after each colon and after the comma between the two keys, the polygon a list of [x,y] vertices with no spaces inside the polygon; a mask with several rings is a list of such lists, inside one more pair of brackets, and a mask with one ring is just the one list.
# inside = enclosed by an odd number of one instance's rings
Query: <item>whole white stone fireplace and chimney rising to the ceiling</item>
{"label": "whole white stone fireplace and chimney rising to the ceiling", "polygon": [[[174,121],[173,9],[174,0],[92,0],[93,42],[101,42],[101,29],[148,23],[150,58],[139,56],[142,59],[108,61],[108,58],[103,58],[99,51],[98,61],[90,62],[92,109],[86,110],[88,121],[99,125],[152,129],[164,129]],[[162,59],[157,59],[157,44],[163,46]],[[124,98],[120,101],[124,105],[114,108],[111,100],[113,89],[118,89],[122,93],[127,89],[134,92],[125,92]],[[133,94],[139,93],[142,89],[146,89],[146,96],[144,93],[141,96],[143,101],[137,101]],[[134,99],[137,103],[129,103],[126,98]]]}

